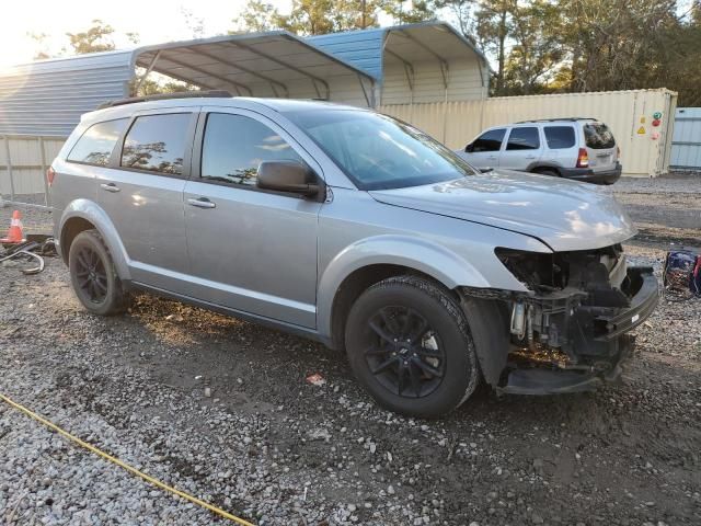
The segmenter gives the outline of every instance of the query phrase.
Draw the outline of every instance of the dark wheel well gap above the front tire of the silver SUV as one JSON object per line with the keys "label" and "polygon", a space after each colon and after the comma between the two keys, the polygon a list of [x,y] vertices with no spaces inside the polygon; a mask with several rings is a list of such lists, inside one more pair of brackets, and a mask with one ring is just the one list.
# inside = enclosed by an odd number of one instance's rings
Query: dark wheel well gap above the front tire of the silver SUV
{"label": "dark wheel well gap above the front tire of the silver SUV", "polygon": [[[333,347],[345,352],[344,334],[346,319],[348,318],[350,307],[353,307],[355,300],[358,299],[365,290],[388,277],[406,275],[420,276],[444,287],[440,282],[428,274],[403,265],[368,265],[358,268],[346,276],[336,290],[336,295],[333,298],[333,306],[331,308],[331,339]],[[457,294],[455,291],[451,293]]]}

